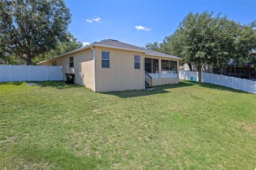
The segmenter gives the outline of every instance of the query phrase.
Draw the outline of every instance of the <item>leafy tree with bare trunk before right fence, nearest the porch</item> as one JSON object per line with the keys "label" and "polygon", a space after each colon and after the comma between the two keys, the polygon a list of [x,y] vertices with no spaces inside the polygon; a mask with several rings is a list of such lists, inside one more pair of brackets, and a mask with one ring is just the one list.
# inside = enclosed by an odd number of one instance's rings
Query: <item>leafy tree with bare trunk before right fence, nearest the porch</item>
{"label": "leafy tree with bare trunk before right fence, nearest the porch", "polygon": [[[217,29],[219,15],[212,17],[213,12],[199,14],[190,12],[179,24],[175,31],[173,43],[179,44],[177,51],[181,58],[193,64],[198,70],[198,81],[201,82],[202,66],[215,55],[216,47],[214,33]],[[177,48],[177,45],[174,46]]]}

